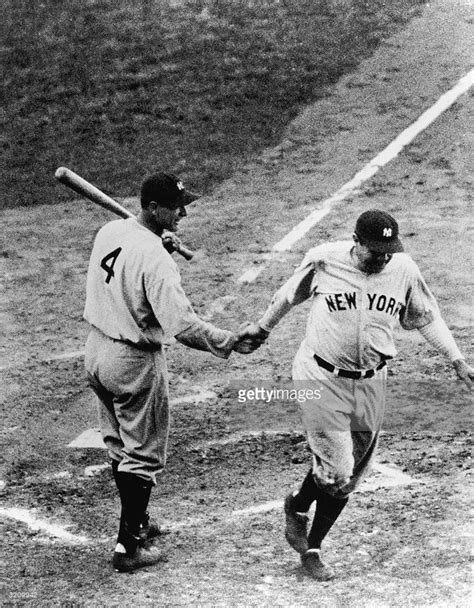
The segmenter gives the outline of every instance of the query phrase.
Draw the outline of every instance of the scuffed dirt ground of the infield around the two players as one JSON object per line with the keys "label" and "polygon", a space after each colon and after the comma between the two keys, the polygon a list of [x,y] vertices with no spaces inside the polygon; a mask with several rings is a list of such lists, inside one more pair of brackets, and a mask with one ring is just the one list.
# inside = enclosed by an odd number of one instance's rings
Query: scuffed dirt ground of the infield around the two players
{"label": "scuffed dirt ground of the infield around the two players", "polygon": [[[462,96],[398,158],[334,208],[255,283],[262,256],[470,69],[471,2],[437,0],[267,150],[190,208],[179,261],[196,310],[237,328],[265,309],[308,247],[351,234],[371,207],[393,213],[461,349],[472,332],[472,97]],[[136,200],[124,202],[136,210]],[[338,577],[306,578],[285,544],[281,501],[309,466],[294,402],[239,403],[237,388],[284,382],[307,306],[268,343],[222,362],[169,348],[173,423],[151,511],[168,559],[133,575],[110,567],[118,503],[111,474],[85,474],[101,449],[67,445],[97,426],[82,349],[88,253],[110,214],[84,201],[2,213],[8,306],[2,313],[1,508],[58,524],[74,542],[3,514],[5,606],[467,607],[471,604],[467,390],[417,334],[399,335],[379,463],[410,478],[355,494],[327,540]],[[184,224],[184,223],[183,223]],[[193,399],[193,394],[204,395]],[[227,439],[227,441],[225,441]],[[382,469],[384,470],[384,469]],[[386,471],[386,470],[385,470]],[[386,474],[386,473],[385,473]],[[380,473],[379,476],[383,477]],[[272,503],[272,504],[270,504]]]}

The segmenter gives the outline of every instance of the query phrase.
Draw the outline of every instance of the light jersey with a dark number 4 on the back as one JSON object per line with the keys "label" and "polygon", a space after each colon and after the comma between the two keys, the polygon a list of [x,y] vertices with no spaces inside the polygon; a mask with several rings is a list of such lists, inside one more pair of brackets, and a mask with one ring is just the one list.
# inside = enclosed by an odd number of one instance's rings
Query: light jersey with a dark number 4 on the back
{"label": "light jersey with a dark number 4 on the back", "polygon": [[134,218],[103,226],[87,275],[84,318],[110,338],[161,345],[199,319],[161,238]]}

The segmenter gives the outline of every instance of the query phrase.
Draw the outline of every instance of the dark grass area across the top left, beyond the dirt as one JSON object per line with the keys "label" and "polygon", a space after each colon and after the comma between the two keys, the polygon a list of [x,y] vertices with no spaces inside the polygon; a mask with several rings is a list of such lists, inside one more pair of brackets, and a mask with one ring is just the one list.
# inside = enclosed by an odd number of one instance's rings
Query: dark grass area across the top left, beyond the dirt
{"label": "dark grass area across the top left, beyond the dirt", "polygon": [[111,195],[157,167],[202,193],[419,10],[420,0],[10,0],[3,6],[6,207]]}

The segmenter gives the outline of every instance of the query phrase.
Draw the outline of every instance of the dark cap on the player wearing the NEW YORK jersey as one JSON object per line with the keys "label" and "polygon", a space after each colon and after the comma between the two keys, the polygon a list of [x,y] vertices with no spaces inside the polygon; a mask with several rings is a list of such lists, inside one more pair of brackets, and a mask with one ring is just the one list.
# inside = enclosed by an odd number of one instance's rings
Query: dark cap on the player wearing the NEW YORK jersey
{"label": "dark cap on the player wearing the NEW YORK jersey", "polygon": [[373,251],[380,253],[403,251],[395,218],[380,209],[364,211],[357,219],[355,233],[364,245]]}

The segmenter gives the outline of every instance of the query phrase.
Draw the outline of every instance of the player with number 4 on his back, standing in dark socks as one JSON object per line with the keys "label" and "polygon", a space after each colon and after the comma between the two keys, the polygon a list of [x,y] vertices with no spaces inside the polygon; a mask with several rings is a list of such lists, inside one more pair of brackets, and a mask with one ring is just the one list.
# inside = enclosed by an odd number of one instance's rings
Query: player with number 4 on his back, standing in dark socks
{"label": "player with number 4 on his back, standing in dark socks", "polygon": [[[169,404],[164,345],[176,338],[190,348],[226,359],[250,353],[249,341],[201,320],[181,286],[172,259],[173,233],[198,198],[175,175],[157,173],[141,188],[136,218],[103,226],[87,274],[84,318],[90,324],[85,367],[99,398],[103,440],[112,459],[121,517],[113,565],[132,571],[163,558],[160,529],[147,506],[166,461]],[[171,237],[162,239],[164,231]],[[174,238],[173,238],[174,237]]]}

